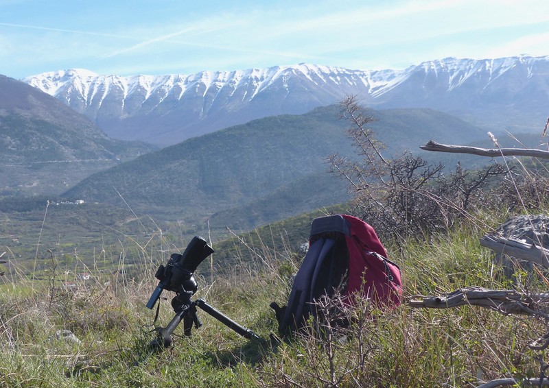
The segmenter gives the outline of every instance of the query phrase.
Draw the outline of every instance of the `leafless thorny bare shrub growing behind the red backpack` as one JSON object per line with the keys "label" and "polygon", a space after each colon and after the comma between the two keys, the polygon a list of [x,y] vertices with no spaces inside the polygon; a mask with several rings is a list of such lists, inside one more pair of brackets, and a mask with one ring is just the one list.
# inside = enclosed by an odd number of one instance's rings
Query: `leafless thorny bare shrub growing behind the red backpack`
{"label": "leafless thorny bare shrub growing behind the red backpack", "polygon": [[454,173],[445,175],[443,165],[432,165],[409,151],[386,158],[386,146],[367,128],[373,117],[355,97],[342,101],[340,117],[350,123],[347,133],[360,160],[333,155],[331,171],[349,182],[355,212],[369,220],[382,239],[423,239],[447,230],[474,208],[487,206],[491,198],[487,189],[497,187],[507,173],[497,164],[476,172],[458,165]]}

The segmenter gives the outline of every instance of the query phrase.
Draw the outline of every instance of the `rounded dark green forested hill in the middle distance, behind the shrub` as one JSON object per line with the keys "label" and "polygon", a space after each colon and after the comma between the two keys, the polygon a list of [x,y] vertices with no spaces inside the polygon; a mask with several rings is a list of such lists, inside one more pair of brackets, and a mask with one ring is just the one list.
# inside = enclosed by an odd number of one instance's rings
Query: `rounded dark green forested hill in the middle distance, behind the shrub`
{"label": "rounded dark green forested hill in the middle distance, behind the shrub", "polygon": [[[419,150],[430,136],[445,142],[482,130],[430,109],[372,111],[388,153]],[[250,121],[140,156],[65,193],[212,230],[249,229],[349,199],[347,182],[327,173],[329,155],[353,156],[338,107]],[[424,151],[423,151],[424,152]],[[434,153],[428,153],[434,154]],[[124,199],[122,199],[124,198]],[[123,202],[124,201],[124,202]]]}

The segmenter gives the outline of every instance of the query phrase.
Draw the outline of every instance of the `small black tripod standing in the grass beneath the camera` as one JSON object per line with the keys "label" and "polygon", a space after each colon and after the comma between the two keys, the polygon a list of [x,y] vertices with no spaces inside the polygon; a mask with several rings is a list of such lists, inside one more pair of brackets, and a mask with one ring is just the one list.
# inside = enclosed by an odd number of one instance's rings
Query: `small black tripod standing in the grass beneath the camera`
{"label": "small black tripod standing in the grass beneath the camera", "polygon": [[185,293],[178,293],[178,295],[176,295],[176,297],[172,299],[172,308],[174,308],[176,315],[165,328],[156,328],[156,339],[154,339],[150,343],[152,347],[159,348],[162,345],[164,348],[169,348],[170,345],[172,345],[172,335],[174,333],[174,330],[177,328],[182,320],[183,332],[186,337],[191,336],[193,324],[197,329],[200,328],[200,326],[202,326],[202,323],[196,315],[197,306],[215,319],[218,319],[219,322],[221,322],[228,328],[231,328],[238,334],[242,335],[242,337],[247,339],[259,339],[259,336],[256,335],[255,332],[248,328],[245,328],[244,326],[241,326],[240,324],[237,324],[235,321],[233,321],[233,319],[227,317],[221,311],[214,308],[210,304],[207,304],[205,300],[198,299],[191,301],[191,295],[193,294],[194,292],[192,291],[186,291]]}

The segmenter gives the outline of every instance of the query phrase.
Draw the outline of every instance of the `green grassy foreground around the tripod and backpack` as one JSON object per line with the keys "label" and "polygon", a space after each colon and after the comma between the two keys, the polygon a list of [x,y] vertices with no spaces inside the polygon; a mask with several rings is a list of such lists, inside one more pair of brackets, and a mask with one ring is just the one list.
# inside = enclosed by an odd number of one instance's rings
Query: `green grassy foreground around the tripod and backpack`
{"label": "green grassy foreground around the tripod and backpack", "polygon": [[[517,284],[502,276],[490,252],[478,244],[478,237],[500,221],[484,217],[487,224],[463,224],[398,252],[387,244],[401,267],[405,298],[471,285],[508,289]],[[146,250],[131,271],[96,271],[78,260],[70,269],[54,268],[50,260],[49,271],[47,265],[40,269],[43,280],[14,271],[14,284],[0,287],[0,386],[474,387],[480,380],[539,375],[538,357],[544,352],[528,344],[544,335],[546,324],[476,307],[432,310],[405,303],[394,311],[373,311],[364,302],[350,312],[353,326],[347,332],[270,343],[277,322],[268,305],[285,301],[288,278],[301,258],[284,248],[285,238],[272,234],[256,240],[260,254],[251,254],[252,260],[235,258],[222,274],[197,276],[196,298],[262,340],[244,339],[199,309],[202,327],[191,337],[182,337],[183,327],[178,327],[173,348],[152,351],[148,343],[154,339],[155,311],[145,303],[156,287],[158,263]],[[239,248],[248,249],[242,242]],[[91,280],[75,276],[82,271],[91,272]],[[528,279],[530,289],[544,280]],[[173,317],[172,295],[166,294],[158,326]],[[81,343],[54,339],[62,329]]]}

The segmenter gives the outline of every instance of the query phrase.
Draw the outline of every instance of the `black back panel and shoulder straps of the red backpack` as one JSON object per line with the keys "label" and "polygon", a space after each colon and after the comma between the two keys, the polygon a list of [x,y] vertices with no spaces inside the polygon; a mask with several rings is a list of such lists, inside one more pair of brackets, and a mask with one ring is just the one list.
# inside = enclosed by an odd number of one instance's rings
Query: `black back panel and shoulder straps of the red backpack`
{"label": "black back panel and shoulder straps of the red backpack", "polygon": [[349,223],[343,217],[314,219],[309,250],[294,279],[288,306],[270,304],[281,335],[301,328],[309,316],[316,317],[314,301],[321,295],[331,296],[338,287],[344,287],[349,268],[345,236],[349,236]]}

